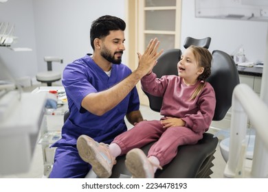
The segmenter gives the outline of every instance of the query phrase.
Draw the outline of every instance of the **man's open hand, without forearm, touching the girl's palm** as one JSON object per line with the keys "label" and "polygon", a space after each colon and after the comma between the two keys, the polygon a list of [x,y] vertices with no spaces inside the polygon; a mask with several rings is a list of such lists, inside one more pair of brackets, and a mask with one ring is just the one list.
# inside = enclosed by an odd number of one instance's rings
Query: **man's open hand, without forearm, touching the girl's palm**
{"label": "man's open hand, without forearm, touching the girl's palm", "polygon": [[150,40],[150,43],[146,47],[144,54],[137,53],[139,58],[139,66],[137,67],[137,71],[142,73],[142,76],[150,74],[153,70],[153,67],[157,63],[157,58],[161,56],[163,50],[161,49],[157,52],[159,48],[159,40],[157,38]]}

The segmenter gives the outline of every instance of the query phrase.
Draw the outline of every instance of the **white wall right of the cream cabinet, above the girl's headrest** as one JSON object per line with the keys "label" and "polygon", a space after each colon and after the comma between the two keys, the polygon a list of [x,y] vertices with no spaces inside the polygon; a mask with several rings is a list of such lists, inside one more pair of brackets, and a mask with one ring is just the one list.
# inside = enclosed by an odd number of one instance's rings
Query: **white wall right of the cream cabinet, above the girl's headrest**
{"label": "white wall right of the cream cabinet, above the girl's headrest", "polygon": [[232,54],[243,45],[249,60],[264,60],[267,23],[234,21],[223,19],[203,19],[194,16],[194,0],[182,0],[181,49],[187,36],[212,38],[210,51],[219,49]]}

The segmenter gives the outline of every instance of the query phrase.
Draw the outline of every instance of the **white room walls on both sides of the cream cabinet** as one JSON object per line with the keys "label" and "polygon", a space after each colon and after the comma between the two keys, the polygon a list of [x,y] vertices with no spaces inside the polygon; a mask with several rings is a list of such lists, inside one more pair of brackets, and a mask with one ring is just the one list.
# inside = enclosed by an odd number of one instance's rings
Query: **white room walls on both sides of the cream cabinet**
{"label": "white room walls on both sides of the cream cabinet", "polygon": [[[0,22],[16,26],[18,43],[13,47],[30,47],[32,52],[14,52],[0,47],[0,62],[7,65],[15,77],[46,70],[44,56],[59,56],[63,64],[55,63],[55,71],[92,51],[89,42],[91,22],[104,14],[126,17],[124,0],[8,0],[0,3]],[[264,60],[267,23],[201,19],[194,16],[194,0],[182,0],[181,49],[187,36],[210,36],[210,51],[227,53],[243,45],[249,60]],[[126,56],[126,55],[125,55]],[[0,69],[1,80],[1,69]]]}

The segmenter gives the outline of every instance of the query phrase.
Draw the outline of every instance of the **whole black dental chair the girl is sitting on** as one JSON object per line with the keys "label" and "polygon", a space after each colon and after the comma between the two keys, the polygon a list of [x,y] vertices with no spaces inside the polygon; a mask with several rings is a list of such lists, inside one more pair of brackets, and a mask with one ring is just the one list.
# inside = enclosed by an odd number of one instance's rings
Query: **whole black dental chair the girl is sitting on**
{"label": "whole black dental chair the girl is sitting on", "polygon": [[[153,72],[157,74],[157,77],[177,75],[177,62],[180,57],[180,49],[164,51],[153,68]],[[213,121],[221,121],[232,105],[232,92],[234,87],[239,84],[239,77],[236,64],[227,53],[216,50],[212,52],[212,58],[212,73],[207,81],[212,84],[216,94]],[[150,108],[159,112],[162,98],[148,93],[146,95]],[[69,116],[69,112],[66,113],[65,119],[67,116]],[[142,147],[145,154],[148,154],[153,143]],[[214,152],[216,152],[218,143],[219,139],[213,134],[205,132],[203,139],[197,144],[179,146],[177,156],[168,165],[165,165],[163,170],[157,170],[155,178],[210,178],[213,173],[211,168],[214,166],[212,160],[214,160]],[[126,156],[119,156],[116,159],[117,163],[113,167],[111,178],[131,178],[131,173],[124,164],[125,158]],[[85,178],[98,178],[98,176],[91,169]]]}

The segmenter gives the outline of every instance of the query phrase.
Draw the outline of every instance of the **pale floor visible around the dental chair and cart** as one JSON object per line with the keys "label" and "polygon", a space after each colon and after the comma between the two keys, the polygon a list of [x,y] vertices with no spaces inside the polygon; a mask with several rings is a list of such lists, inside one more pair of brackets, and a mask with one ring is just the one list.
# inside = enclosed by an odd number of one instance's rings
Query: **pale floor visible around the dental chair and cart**
{"label": "pale floor visible around the dental chair and cart", "polygon": [[[33,90],[33,89],[32,89]],[[29,90],[28,90],[29,91]],[[142,115],[144,119],[152,120],[159,119],[160,115],[158,112],[154,112],[150,110],[147,106],[141,106]],[[131,128],[130,124],[127,124],[129,128]],[[210,132],[213,134],[219,130],[210,129]],[[219,149],[219,144],[216,147],[216,152],[214,154],[215,159],[213,160],[214,167],[212,167],[212,178],[223,178],[223,171],[225,169],[225,161],[221,156],[221,152]],[[18,157],[19,159],[19,157]],[[36,149],[34,151],[34,156],[32,158],[32,165],[30,170],[27,173],[19,173],[15,175],[1,176],[0,178],[43,178],[43,153],[41,145],[36,145]]]}

